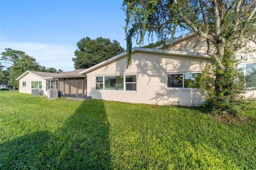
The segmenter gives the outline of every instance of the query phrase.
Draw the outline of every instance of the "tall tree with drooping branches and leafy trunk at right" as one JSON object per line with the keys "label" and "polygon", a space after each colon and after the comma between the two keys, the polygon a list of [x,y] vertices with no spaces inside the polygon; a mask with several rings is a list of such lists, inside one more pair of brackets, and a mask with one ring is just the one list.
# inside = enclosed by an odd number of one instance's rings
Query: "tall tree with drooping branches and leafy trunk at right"
{"label": "tall tree with drooping branches and leafy trunk at right", "polygon": [[235,53],[249,41],[256,43],[255,0],[125,0],[123,8],[127,66],[131,64],[134,37],[141,44],[147,32],[149,36],[156,33],[159,40],[172,42],[177,28],[196,32],[196,45],[205,38],[210,56],[201,79],[206,100],[215,113],[237,112],[243,81],[237,81],[241,75],[236,69]]}

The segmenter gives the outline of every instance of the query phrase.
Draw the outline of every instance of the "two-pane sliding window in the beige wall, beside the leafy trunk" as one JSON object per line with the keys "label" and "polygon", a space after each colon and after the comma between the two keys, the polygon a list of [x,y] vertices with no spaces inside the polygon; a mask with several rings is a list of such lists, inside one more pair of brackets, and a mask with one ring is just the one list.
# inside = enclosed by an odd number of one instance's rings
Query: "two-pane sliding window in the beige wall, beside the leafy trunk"
{"label": "two-pane sliding window in the beige wall, beside the leafy trunk", "polygon": [[201,73],[167,74],[168,88],[198,88]]}

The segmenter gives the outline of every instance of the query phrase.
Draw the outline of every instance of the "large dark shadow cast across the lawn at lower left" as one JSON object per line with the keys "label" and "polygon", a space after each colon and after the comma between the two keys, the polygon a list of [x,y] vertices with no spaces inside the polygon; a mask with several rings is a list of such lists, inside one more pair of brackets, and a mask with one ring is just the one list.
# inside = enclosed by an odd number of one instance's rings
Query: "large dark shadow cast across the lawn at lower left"
{"label": "large dark shadow cast across the lawn at lower left", "polygon": [[0,169],[109,169],[109,127],[103,102],[83,101],[54,133],[2,143]]}

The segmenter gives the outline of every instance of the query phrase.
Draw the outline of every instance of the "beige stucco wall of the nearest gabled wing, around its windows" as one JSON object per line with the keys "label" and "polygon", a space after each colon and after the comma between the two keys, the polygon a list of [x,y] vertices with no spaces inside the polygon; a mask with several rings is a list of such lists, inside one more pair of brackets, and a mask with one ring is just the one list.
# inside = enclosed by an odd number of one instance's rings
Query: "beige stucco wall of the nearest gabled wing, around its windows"
{"label": "beige stucco wall of the nearest gabled wing, around its windows", "polygon": [[[166,89],[166,73],[201,71],[202,58],[136,52],[132,65],[126,67],[126,57],[87,73],[87,95],[94,99],[158,105],[193,106],[201,102],[198,91]],[[137,91],[95,90],[95,77],[107,75],[137,75]]]}

